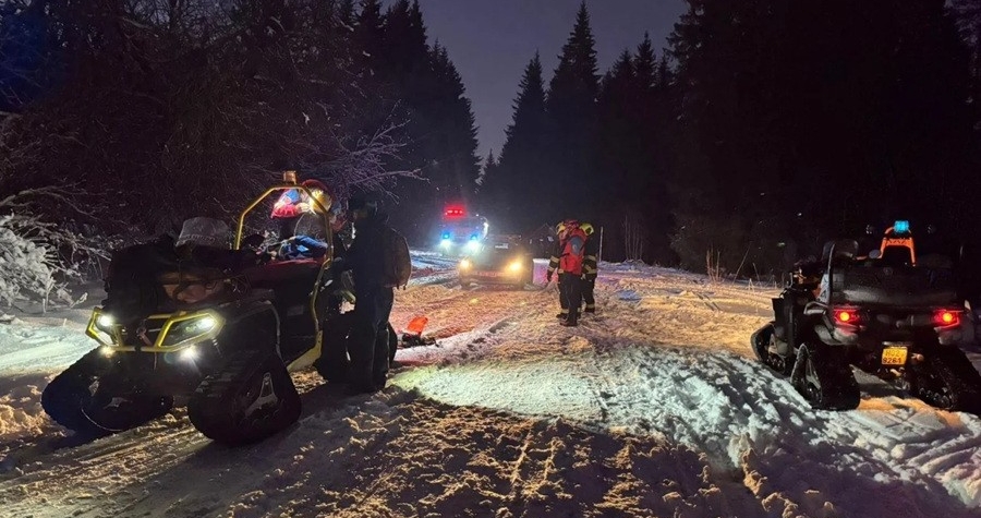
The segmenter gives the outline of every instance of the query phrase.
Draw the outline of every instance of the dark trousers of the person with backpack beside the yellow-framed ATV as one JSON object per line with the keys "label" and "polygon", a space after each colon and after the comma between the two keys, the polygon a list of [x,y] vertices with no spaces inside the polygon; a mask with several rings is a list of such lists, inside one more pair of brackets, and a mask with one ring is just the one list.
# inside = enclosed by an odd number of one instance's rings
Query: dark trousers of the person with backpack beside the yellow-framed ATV
{"label": "dark trousers of the person with backpack beside the yellow-framed ATV", "polygon": [[358,291],[348,350],[351,356],[349,380],[355,387],[385,386],[388,375],[388,317],[392,299],[391,288]]}

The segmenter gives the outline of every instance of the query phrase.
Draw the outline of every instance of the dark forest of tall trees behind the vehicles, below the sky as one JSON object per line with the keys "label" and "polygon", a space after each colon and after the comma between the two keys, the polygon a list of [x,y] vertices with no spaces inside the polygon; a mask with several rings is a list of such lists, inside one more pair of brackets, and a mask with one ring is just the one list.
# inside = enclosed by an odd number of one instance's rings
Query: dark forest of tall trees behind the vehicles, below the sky
{"label": "dark forest of tall trees behind the vehicles, below the sky", "polygon": [[0,2],[0,206],[159,232],[296,168],[387,193],[419,244],[456,201],[742,276],[897,218],[981,241],[981,0],[687,3],[667,48],[639,35],[606,71],[583,4],[481,167],[416,2]]}

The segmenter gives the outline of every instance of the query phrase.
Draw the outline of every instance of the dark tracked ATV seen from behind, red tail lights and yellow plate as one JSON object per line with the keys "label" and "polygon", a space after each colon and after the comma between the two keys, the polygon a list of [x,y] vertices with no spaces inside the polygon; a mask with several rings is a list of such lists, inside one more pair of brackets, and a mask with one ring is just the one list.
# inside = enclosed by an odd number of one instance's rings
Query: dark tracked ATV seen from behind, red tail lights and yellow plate
{"label": "dark tracked ATV seen from behind, red tail lights and yellow plate", "polygon": [[853,365],[933,407],[981,411],[981,374],[958,347],[964,300],[953,262],[917,257],[906,221],[857,254],[855,240],[829,242],[816,270],[795,273],[773,299],[773,322],[752,335],[758,360],[816,409],[858,407]]}

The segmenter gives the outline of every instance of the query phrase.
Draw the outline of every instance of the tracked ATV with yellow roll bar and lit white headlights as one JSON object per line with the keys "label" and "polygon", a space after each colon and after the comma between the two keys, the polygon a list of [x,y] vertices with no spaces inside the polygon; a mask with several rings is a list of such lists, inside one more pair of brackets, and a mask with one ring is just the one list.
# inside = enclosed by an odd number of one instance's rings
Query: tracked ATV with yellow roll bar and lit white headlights
{"label": "tracked ATV with yellow roll bar and lit white headlights", "polygon": [[[185,401],[191,423],[229,445],[294,423],[301,402],[290,372],[319,358],[339,314],[327,289],[332,254],[328,246],[326,256],[284,260],[243,249],[242,234],[246,215],[270,195],[305,189],[287,173],[266,190],[241,213],[232,250],[187,254],[158,240],[116,252],[107,298],[86,328],[98,347],[48,384],[45,411],[78,434],[101,436]],[[320,200],[316,214],[330,243],[330,201]]]}

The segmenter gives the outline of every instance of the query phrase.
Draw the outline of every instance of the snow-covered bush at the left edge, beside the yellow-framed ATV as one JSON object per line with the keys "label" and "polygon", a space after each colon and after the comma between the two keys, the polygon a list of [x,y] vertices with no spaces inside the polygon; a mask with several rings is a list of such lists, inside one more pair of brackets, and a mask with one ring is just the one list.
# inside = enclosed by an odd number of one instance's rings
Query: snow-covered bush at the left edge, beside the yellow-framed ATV
{"label": "snow-covered bush at the left edge, beside the yellow-framed ATV", "polygon": [[73,302],[65,281],[76,272],[58,261],[39,228],[43,224],[29,216],[0,216],[0,305],[29,301],[47,309],[51,302]]}

